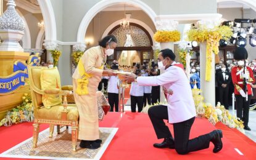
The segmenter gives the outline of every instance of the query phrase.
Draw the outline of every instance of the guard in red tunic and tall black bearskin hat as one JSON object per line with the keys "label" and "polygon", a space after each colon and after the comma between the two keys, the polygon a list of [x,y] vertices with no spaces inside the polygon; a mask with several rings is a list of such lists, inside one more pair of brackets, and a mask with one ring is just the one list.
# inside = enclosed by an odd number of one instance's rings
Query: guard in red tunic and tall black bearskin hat
{"label": "guard in red tunic and tall black bearskin hat", "polygon": [[244,63],[247,57],[247,50],[244,47],[237,47],[234,52],[234,58],[238,61],[238,66],[232,68],[231,75],[234,84],[234,95],[236,97],[236,116],[244,121],[244,129],[250,130],[248,126],[249,105],[250,98],[252,98],[251,85],[254,84],[255,79],[252,69]]}

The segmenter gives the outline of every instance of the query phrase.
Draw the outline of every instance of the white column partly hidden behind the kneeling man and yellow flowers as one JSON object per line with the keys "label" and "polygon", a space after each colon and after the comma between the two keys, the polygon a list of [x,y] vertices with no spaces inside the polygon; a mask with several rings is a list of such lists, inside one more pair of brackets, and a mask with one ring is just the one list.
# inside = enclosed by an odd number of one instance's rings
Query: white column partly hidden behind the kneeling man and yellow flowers
{"label": "white column partly hidden behind the kneeling man and yellow flowers", "polygon": [[[156,28],[157,30],[164,31],[174,31],[177,30],[178,22],[175,20],[164,19],[164,18],[156,18]],[[171,49],[174,52],[174,42],[160,42],[160,50],[162,49]],[[162,74],[162,73],[160,73]],[[163,89],[160,87],[160,102],[167,103],[165,95],[163,94]]]}

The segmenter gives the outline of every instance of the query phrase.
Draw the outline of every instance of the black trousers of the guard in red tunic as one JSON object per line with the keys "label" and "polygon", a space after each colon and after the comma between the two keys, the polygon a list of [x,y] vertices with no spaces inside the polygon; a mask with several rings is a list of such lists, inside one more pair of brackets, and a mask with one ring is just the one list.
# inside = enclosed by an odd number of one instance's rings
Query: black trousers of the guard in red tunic
{"label": "black trousers of the guard in red tunic", "polygon": [[236,97],[236,116],[244,121],[244,126],[248,126],[249,122],[249,106],[250,98],[252,95],[248,95],[248,101],[242,95],[235,95]]}

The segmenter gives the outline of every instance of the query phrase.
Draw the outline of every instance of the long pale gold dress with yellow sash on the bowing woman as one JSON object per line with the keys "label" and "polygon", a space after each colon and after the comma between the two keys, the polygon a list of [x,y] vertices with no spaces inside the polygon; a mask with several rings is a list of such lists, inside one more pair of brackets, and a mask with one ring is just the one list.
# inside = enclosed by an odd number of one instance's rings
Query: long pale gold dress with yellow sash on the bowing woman
{"label": "long pale gold dress with yellow sash on the bowing woman", "polygon": [[104,52],[100,46],[86,50],[73,74],[75,103],[79,112],[80,140],[99,139],[97,87],[101,81]]}

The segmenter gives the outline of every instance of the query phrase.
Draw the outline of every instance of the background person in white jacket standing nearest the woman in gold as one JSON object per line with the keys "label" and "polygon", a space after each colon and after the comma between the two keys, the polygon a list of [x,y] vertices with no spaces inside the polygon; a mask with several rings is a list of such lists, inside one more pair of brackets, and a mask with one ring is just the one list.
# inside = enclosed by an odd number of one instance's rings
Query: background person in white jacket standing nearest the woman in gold
{"label": "background person in white jacket standing nearest the woman in gold", "polygon": [[[111,66],[112,70],[118,70],[118,65],[113,63]],[[107,94],[109,98],[109,105],[110,105],[110,111],[114,111],[114,105],[115,105],[115,111],[118,112],[119,104],[118,104],[118,76],[110,76],[109,78],[109,86],[107,87]]]}

